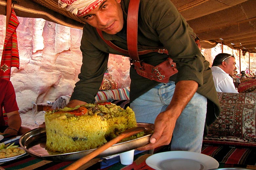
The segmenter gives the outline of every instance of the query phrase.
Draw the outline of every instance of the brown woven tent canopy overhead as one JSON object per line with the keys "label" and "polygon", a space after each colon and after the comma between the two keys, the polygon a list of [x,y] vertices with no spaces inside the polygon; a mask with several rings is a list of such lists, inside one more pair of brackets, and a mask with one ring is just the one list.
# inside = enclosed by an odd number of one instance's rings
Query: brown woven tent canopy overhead
{"label": "brown woven tent canopy overhead", "polygon": [[[256,53],[256,0],[171,0],[201,40],[203,48],[218,43]],[[82,29],[82,17],[59,8],[58,0],[12,0],[17,16]],[[6,15],[6,0],[0,0]]]}

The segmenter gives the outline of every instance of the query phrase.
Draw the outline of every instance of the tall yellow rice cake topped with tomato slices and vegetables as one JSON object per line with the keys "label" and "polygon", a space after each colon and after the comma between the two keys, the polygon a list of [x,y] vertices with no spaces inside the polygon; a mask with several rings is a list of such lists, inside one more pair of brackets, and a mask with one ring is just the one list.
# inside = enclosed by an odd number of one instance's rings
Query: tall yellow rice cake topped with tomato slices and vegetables
{"label": "tall yellow rice cake topped with tomato slices and vegetables", "polygon": [[[63,153],[97,148],[122,131],[137,127],[134,111],[115,104],[85,104],[45,114],[46,149]],[[121,142],[143,136],[143,132]]]}

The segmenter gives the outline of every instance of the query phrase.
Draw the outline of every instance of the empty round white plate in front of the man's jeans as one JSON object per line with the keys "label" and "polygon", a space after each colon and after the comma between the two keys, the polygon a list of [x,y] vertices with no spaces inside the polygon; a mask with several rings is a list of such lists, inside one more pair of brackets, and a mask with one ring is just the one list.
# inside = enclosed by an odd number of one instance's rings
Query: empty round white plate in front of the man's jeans
{"label": "empty round white plate in front of the man's jeans", "polygon": [[146,164],[156,170],[207,170],[219,167],[214,158],[197,152],[169,151],[151,155]]}

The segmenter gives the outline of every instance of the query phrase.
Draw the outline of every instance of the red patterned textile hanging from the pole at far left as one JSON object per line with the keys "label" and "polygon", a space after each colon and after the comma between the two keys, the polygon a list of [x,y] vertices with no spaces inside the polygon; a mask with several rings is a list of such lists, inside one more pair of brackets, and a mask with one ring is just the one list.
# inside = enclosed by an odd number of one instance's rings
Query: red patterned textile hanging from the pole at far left
{"label": "red patterned textile hanging from the pole at far left", "polygon": [[0,77],[10,80],[11,67],[19,69],[19,51],[16,29],[19,21],[13,9],[11,9],[11,18],[6,30],[4,48],[0,64]]}

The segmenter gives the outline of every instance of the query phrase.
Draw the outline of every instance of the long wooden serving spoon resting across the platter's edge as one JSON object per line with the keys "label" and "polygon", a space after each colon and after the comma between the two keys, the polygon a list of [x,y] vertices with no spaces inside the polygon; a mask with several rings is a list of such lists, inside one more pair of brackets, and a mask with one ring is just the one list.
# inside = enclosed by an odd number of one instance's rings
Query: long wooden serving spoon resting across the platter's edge
{"label": "long wooden serving spoon resting across the platter's edge", "polygon": [[133,128],[127,129],[127,130],[123,131],[122,133],[120,133],[116,138],[110,140],[106,144],[101,145],[100,147],[98,147],[97,149],[95,149],[94,151],[89,153],[88,155],[85,155],[84,157],[75,161],[71,165],[67,166],[66,168],[64,168],[64,170],[75,170],[75,169],[79,168],[80,166],[82,166],[83,164],[85,164],[86,162],[93,159],[94,157],[96,157],[98,154],[100,154],[101,152],[103,152],[104,150],[106,150],[107,148],[112,146],[113,144],[116,144],[117,142],[121,141],[122,139],[130,137],[132,135],[135,135],[144,130],[145,130],[144,127],[133,127]]}

